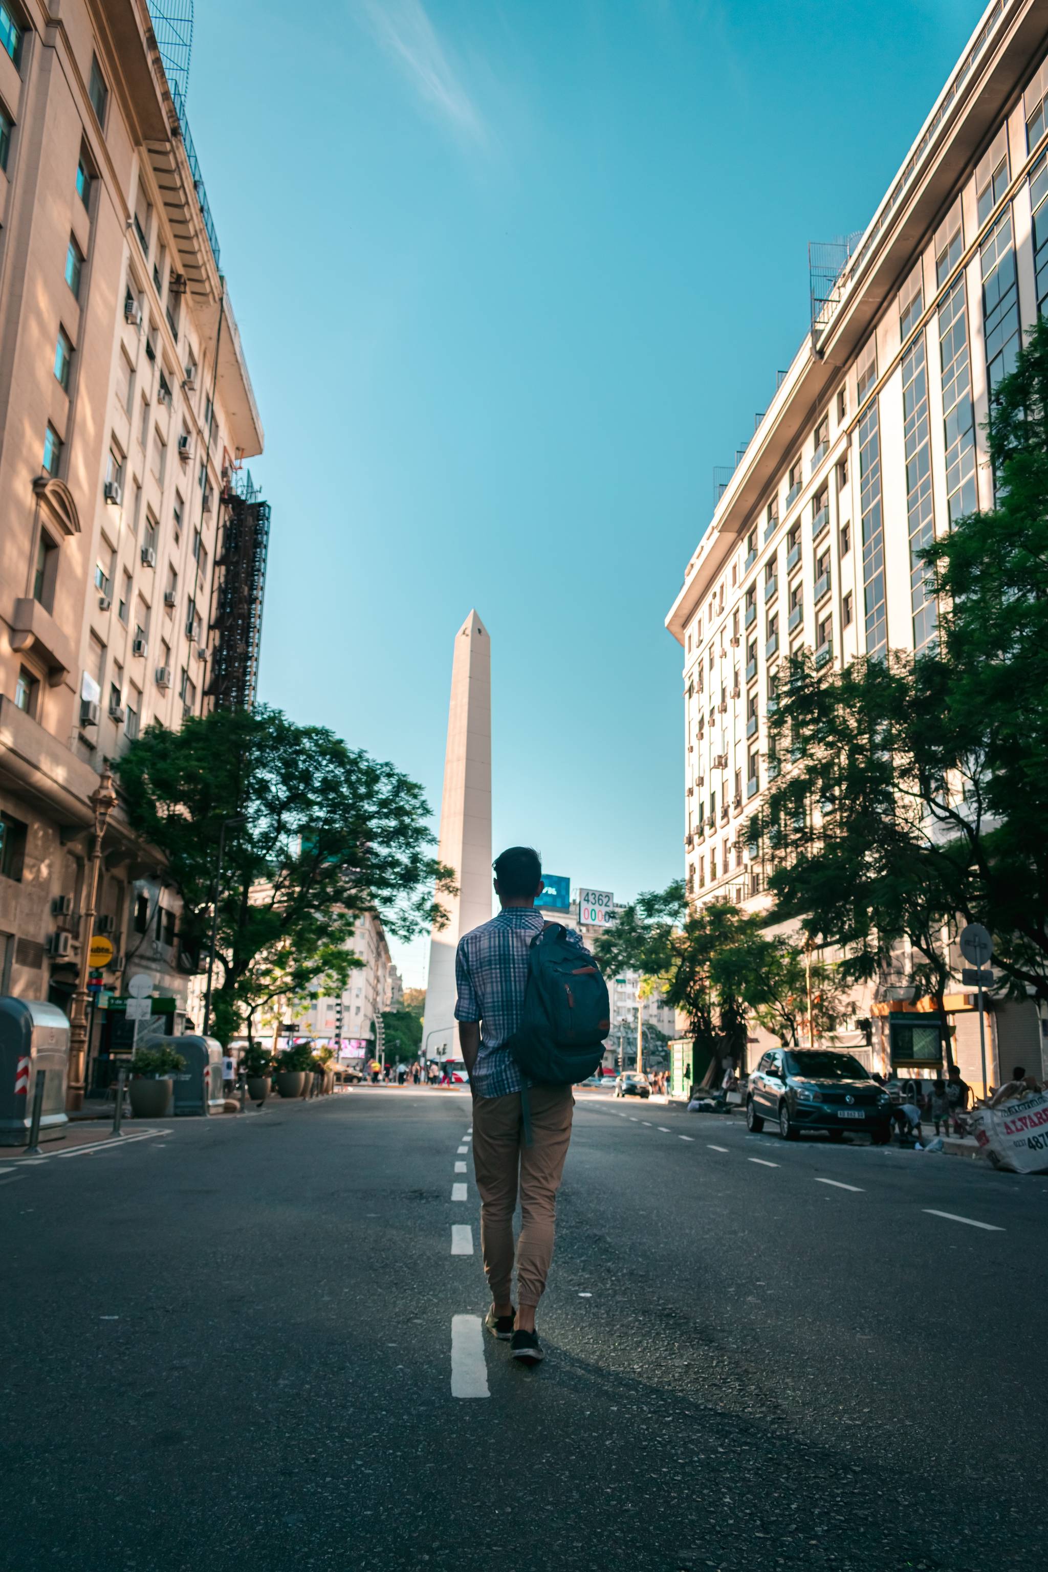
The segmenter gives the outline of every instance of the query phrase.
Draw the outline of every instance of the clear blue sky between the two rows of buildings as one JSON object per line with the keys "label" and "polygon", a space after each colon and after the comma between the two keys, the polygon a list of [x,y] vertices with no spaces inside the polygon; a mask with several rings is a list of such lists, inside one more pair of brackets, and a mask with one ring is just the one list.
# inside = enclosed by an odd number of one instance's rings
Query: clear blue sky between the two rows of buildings
{"label": "clear blue sky between the two rows of buildings", "polygon": [[616,898],[676,877],[663,618],[712,468],[804,333],[808,242],[866,225],[980,9],[200,5],[189,118],[267,435],[262,696],[437,811],[475,605],[495,849]]}

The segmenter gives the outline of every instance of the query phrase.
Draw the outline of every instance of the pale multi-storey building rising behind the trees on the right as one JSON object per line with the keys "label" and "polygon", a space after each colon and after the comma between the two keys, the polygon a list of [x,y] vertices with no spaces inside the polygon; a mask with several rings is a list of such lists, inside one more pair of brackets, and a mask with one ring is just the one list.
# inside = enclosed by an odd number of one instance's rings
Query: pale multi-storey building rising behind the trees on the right
{"label": "pale multi-storey building rising behind the trees on the right", "polygon": [[[987,8],[861,241],[812,280],[811,333],[687,566],[666,626],[683,649],[698,901],[767,905],[746,821],[782,663],[801,646],[819,667],[922,649],[936,608],[914,553],[993,503],[988,391],[1048,297],[1046,57],[1043,3]],[[952,1001],[979,1080],[974,1001]],[[891,1003],[859,1006],[885,1063]],[[1002,1055],[1013,1012],[998,1011]]]}

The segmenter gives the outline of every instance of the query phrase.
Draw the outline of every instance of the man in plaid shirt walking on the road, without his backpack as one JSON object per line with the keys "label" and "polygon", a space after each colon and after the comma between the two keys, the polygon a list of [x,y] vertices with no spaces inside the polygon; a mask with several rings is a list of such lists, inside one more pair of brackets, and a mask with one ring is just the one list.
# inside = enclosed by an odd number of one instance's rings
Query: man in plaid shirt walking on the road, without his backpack
{"label": "man in plaid shirt walking on the road, without his backpack", "polygon": [[[473,1093],[473,1168],[481,1193],[481,1250],[492,1291],[489,1331],[509,1342],[514,1358],[537,1364],[542,1346],[534,1314],[553,1259],[556,1192],[572,1138],[570,1086],[528,1089],[531,1144],[523,1140],[525,1078],[506,1042],[520,1025],[528,984],[528,949],[542,932],[534,910],[542,863],[529,846],[495,858],[501,912],[459,940],[456,1020]],[[575,938],[577,935],[570,935]],[[514,1209],[520,1193],[517,1300],[512,1305]]]}

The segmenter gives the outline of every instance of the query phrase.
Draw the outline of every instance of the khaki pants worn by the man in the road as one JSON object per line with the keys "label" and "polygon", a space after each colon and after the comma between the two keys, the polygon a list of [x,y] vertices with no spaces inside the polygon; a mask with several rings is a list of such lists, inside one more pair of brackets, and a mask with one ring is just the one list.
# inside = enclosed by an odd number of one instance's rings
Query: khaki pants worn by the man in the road
{"label": "khaki pants worn by the man in the road", "polygon": [[570,1086],[533,1086],[531,1146],[523,1144],[520,1093],[473,1099],[473,1170],[481,1192],[481,1250],[497,1305],[511,1300],[514,1210],[520,1192],[517,1295],[537,1305],[553,1259],[556,1192],[572,1138]]}

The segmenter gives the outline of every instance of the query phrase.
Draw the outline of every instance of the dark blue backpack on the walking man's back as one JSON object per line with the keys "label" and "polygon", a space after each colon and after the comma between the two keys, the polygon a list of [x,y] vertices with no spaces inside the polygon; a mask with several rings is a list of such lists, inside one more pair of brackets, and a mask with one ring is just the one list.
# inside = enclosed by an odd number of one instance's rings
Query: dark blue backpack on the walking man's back
{"label": "dark blue backpack on the walking man's back", "polygon": [[561,923],[545,923],[528,946],[523,1014],[504,1045],[528,1080],[567,1086],[597,1071],[610,1031],[608,984],[597,962]]}

